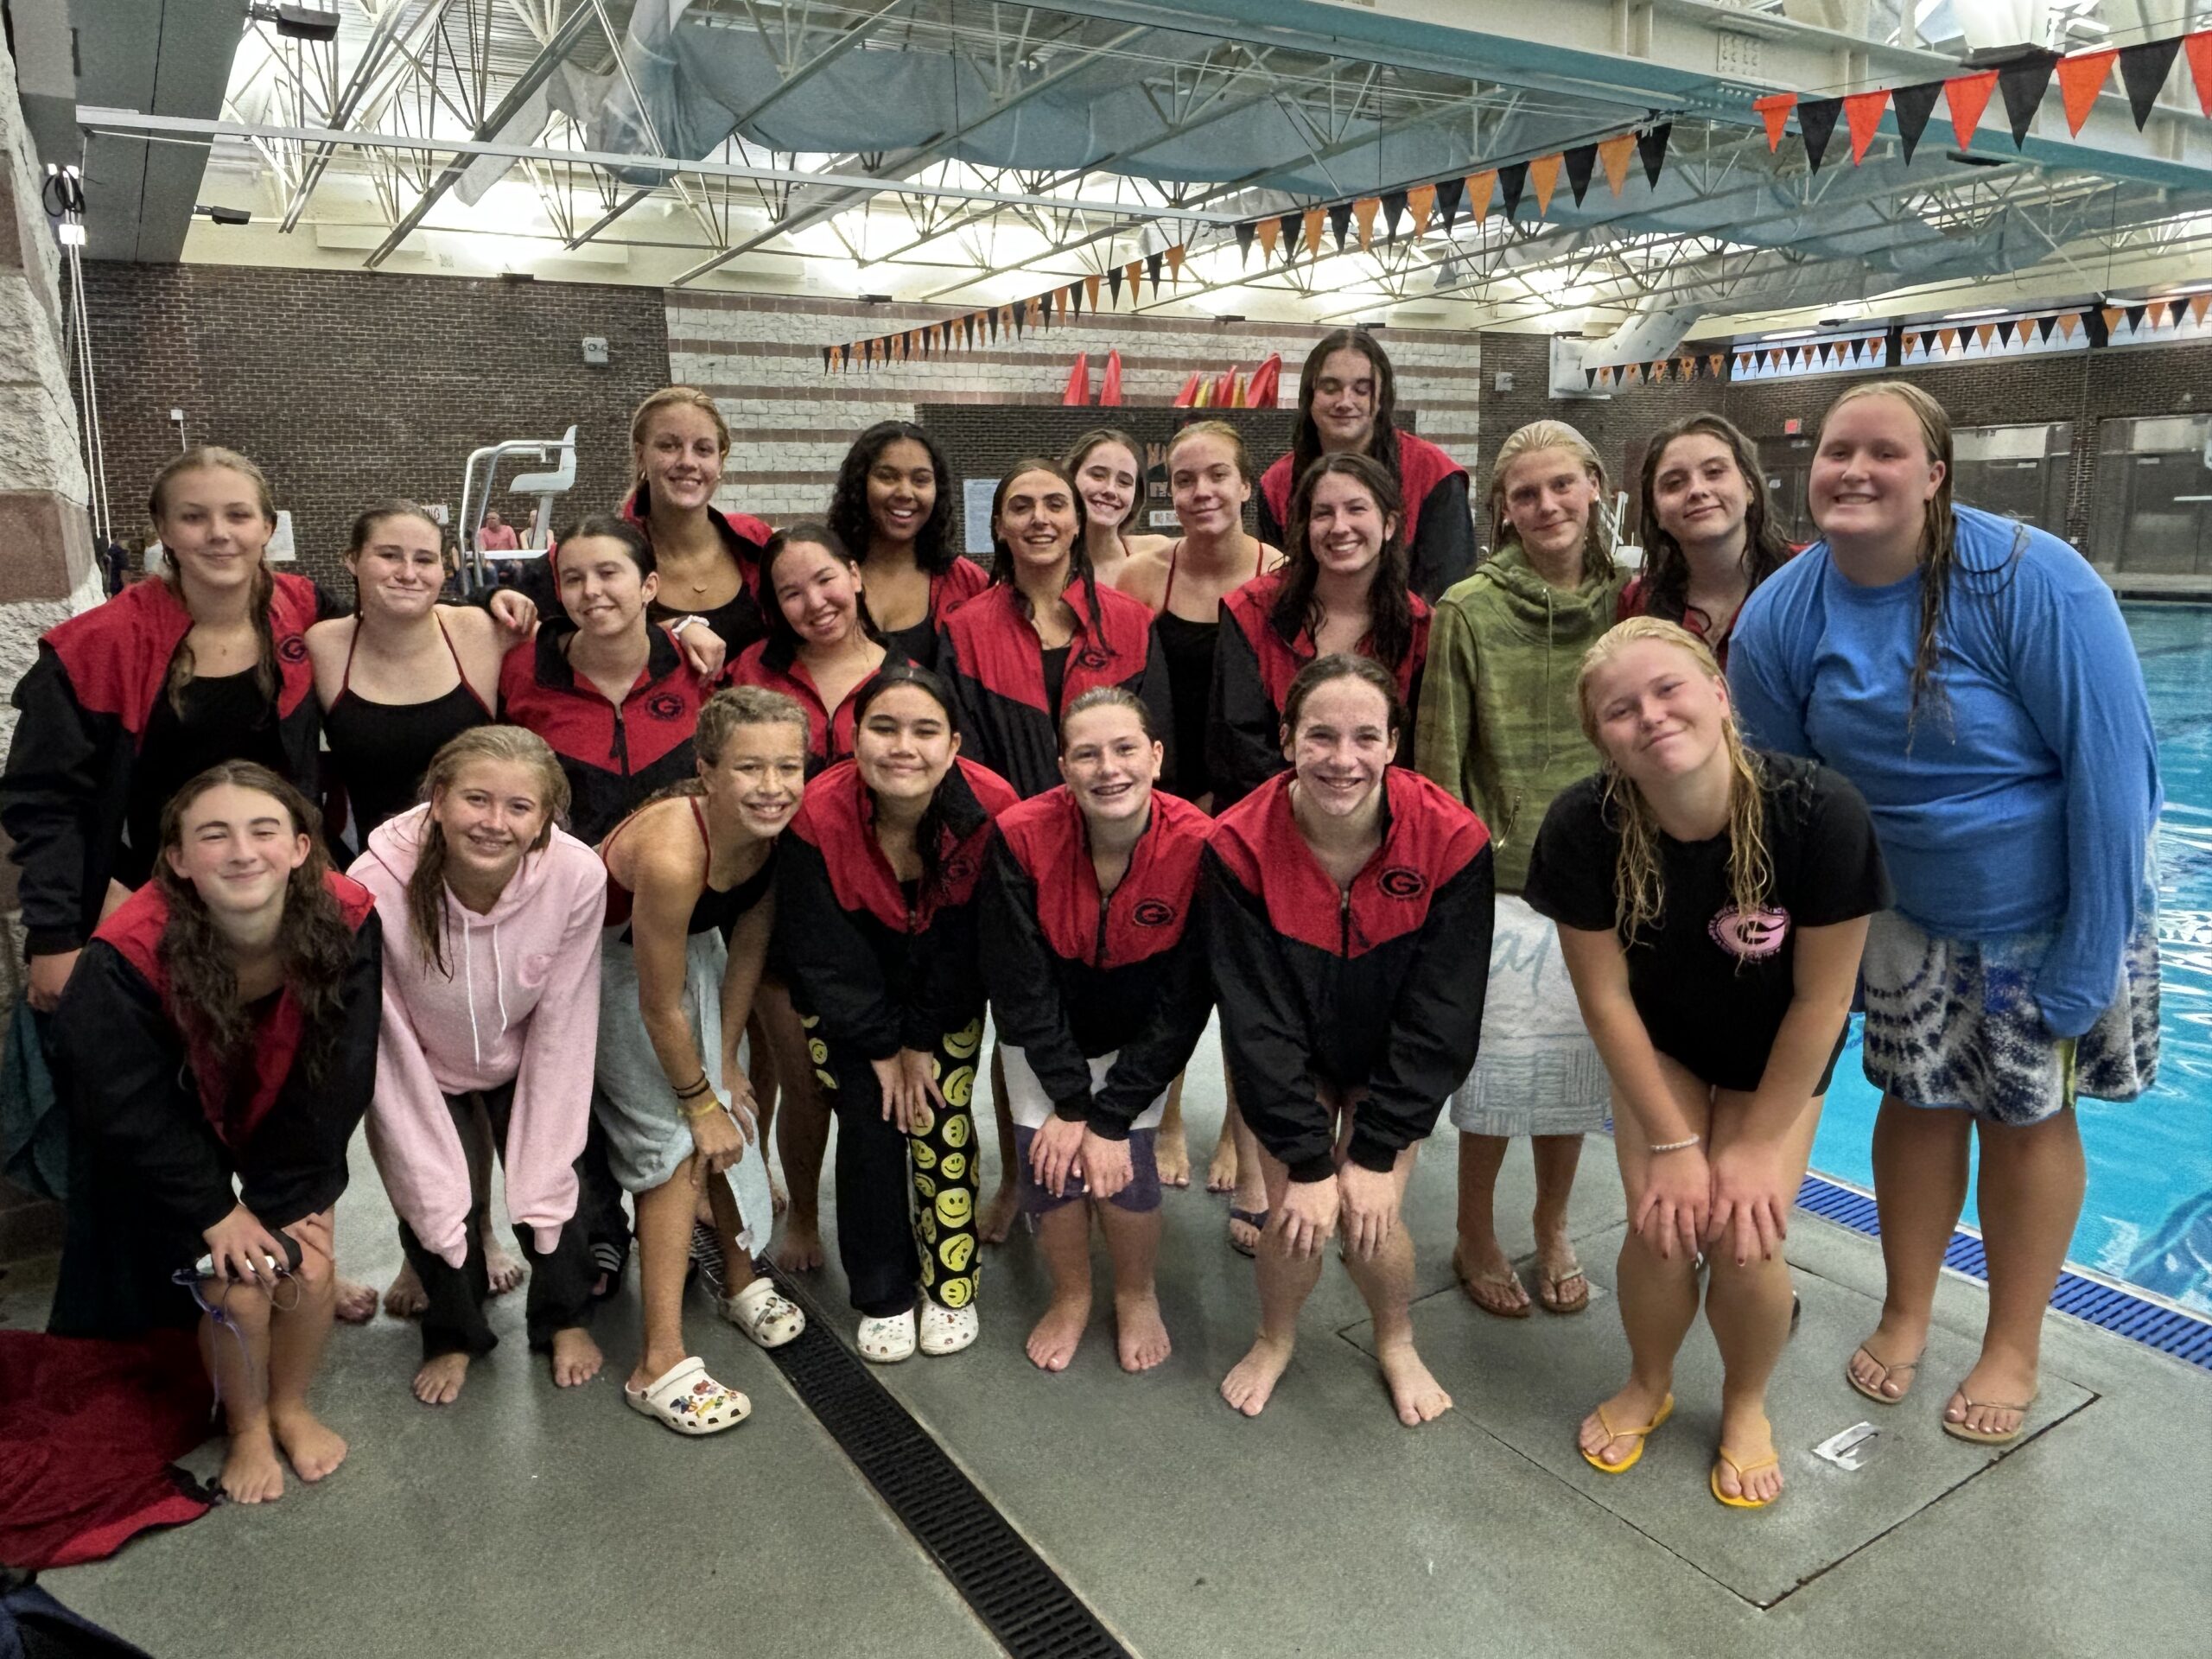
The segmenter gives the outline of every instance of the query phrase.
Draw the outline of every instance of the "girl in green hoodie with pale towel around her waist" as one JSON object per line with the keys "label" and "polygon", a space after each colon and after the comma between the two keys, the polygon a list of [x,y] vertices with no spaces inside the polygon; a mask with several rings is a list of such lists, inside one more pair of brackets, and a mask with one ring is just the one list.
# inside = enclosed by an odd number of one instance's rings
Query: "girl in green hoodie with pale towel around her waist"
{"label": "girl in green hoodie with pale towel around her waist", "polygon": [[1489,1314],[1528,1316],[1528,1292],[1498,1243],[1493,1192],[1515,1135],[1535,1155],[1537,1296],[1555,1314],[1590,1301],[1566,1232],[1582,1137],[1606,1124],[1610,1088],[1582,1029],[1557,931],[1522,885],[1555,794],[1597,770],[1582,734],[1575,672],[1613,626],[1621,575],[1590,442],[1535,420],[1491,467],[1491,557],[1436,606],[1416,726],[1416,765],[1471,805],[1498,849],[1498,929],[1482,1051],[1451,1099],[1460,1130],[1460,1245],[1453,1270]]}

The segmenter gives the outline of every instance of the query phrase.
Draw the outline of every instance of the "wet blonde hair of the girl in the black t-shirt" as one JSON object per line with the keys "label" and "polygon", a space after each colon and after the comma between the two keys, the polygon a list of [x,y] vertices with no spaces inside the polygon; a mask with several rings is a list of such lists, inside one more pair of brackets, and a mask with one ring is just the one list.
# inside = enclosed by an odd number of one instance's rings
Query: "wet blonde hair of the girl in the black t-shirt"
{"label": "wet blonde hair of the girl in the black t-shirt", "polygon": [[[1666,878],[1659,867],[1659,821],[1650,801],[1606,752],[1599,739],[1593,681],[1628,646],[1672,646],[1690,657],[1705,679],[1721,679],[1705,641],[1688,628],[1659,617],[1630,617],[1604,633],[1582,657],[1575,675],[1575,706],[1582,712],[1582,734],[1606,757],[1601,810],[1619,827],[1621,856],[1613,865],[1613,927],[1621,947],[1657,922],[1666,909]],[[1739,916],[1756,916],[1774,887],[1774,856],[1767,852],[1767,814],[1759,790],[1759,759],[1743,745],[1734,710],[1721,714],[1721,741],[1728,745],[1728,898]],[[1741,962],[1739,962],[1741,967]]]}

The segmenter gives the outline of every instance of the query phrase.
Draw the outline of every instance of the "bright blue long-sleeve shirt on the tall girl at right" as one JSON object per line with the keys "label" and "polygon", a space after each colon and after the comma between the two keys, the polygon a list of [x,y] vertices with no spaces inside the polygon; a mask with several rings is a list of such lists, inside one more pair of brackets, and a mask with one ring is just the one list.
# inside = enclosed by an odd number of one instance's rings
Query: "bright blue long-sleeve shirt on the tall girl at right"
{"label": "bright blue long-sleeve shirt on the tall girl at right", "polygon": [[1918,639],[1918,573],[1858,586],[1816,542],[1743,606],[1736,717],[1756,748],[1858,785],[1916,925],[1973,940],[2055,929],[2035,1002],[2077,1037],[2119,995],[2161,805],[2135,644],[2079,553],[1971,507],[1909,728]]}

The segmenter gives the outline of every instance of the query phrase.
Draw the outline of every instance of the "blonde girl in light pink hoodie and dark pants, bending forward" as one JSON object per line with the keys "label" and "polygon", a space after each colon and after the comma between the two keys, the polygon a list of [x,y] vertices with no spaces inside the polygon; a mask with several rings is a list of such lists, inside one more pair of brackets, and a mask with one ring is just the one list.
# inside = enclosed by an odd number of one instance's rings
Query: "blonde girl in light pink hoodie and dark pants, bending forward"
{"label": "blonde girl in light pink hoodie and dark pants, bending forward", "polygon": [[422,1279],[425,1405],[460,1396],[489,1354],[482,1199],[465,1141],[476,1113],[507,1168],[507,1208],[531,1263],[533,1352],[560,1387],[599,1371],[575,1159],[591,1124],[606,867],[555,825],[560,759],[520,726],[478,726],[438,750],[427,805],[369,836],[352,876],[385,922],[385,1015],[369,1150]]}

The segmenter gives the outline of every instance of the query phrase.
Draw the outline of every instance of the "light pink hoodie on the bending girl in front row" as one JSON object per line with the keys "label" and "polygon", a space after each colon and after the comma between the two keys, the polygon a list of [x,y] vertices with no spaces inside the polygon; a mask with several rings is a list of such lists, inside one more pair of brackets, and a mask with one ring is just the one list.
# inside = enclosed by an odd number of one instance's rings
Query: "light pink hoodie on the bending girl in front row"
{"label": "light pink hoodie on the bending girl in front row", "polygon": [[489,916],[447,889],[447,975],[407,922],[407,878],[427,821],[429,807],[416,807],[380,825],[349,872],[376,896],[385,922],[369,1152],[392,1208],[425,1248],[460,1267],[469,1254],[469,1166],[447,1095],[513,1079],[507,1210],[535,1232],[540,1252],[560,1243],[575,1214],[571,1166],[591,1124],[606,865],[555,830]]}

